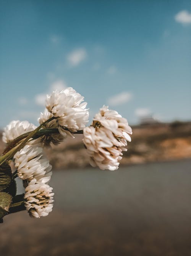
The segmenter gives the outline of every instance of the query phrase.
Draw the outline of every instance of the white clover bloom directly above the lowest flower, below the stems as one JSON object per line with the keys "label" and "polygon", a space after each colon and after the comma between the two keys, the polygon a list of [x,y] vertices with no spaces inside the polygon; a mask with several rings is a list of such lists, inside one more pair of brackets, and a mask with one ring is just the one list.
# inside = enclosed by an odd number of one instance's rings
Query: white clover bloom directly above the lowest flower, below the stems
{"label": "white clover bloom directly above the lowest flower, below the stems", "polygon": [[39,145],[25,145],[14,155],[18,177],[22,180],[39,180],[52,175],[52,165],[43,155],[43,149]]}

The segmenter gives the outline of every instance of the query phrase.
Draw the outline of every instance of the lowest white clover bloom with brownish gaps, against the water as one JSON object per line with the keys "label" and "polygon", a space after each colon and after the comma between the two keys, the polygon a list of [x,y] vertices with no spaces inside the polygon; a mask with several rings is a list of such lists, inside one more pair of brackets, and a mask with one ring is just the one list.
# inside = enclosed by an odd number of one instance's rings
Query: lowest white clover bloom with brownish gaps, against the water
{"label": "lowest white clover bloom with brownish gaps, against the water", "polygon": [[36,179],[29,182],[25,191],[25,207],[29,215],[34,218],[47,216],[53,208],[52,187],[44,182],[38,182]]}

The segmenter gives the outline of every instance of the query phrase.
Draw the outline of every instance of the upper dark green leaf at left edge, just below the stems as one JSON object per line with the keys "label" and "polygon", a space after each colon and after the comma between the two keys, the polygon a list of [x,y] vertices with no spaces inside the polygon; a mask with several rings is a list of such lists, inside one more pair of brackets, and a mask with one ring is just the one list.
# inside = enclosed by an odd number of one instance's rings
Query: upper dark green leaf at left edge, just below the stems
{"label": "upper dark green leaf at left edge, just below the stems", "polygon": [[12,172],[8,162],[0,165],[0,191],[7,188],[11,183]]}

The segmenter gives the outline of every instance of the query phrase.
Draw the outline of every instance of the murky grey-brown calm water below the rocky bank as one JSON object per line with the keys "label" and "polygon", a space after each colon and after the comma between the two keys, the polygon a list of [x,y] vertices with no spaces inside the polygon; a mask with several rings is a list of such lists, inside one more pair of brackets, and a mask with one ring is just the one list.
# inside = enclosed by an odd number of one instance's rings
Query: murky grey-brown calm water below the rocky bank
{"label": "murky grey-brown calm water below the rocky bank", "polygon": [[2,255],[26,255],[18,241],[28,256],[191,255],[191,160],[59,171],[51,185],[48,217],[6,216]]}

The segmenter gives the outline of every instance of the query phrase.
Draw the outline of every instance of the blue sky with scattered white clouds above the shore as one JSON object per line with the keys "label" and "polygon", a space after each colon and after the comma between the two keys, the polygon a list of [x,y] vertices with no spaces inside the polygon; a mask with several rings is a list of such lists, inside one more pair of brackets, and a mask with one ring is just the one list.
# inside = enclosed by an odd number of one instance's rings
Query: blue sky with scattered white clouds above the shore
{"label": "blue sky with scattered white clouds above the shore", "polygon": [[71,86],[91,117],[191,119],[191,1],[0,1],[0,127]]}

